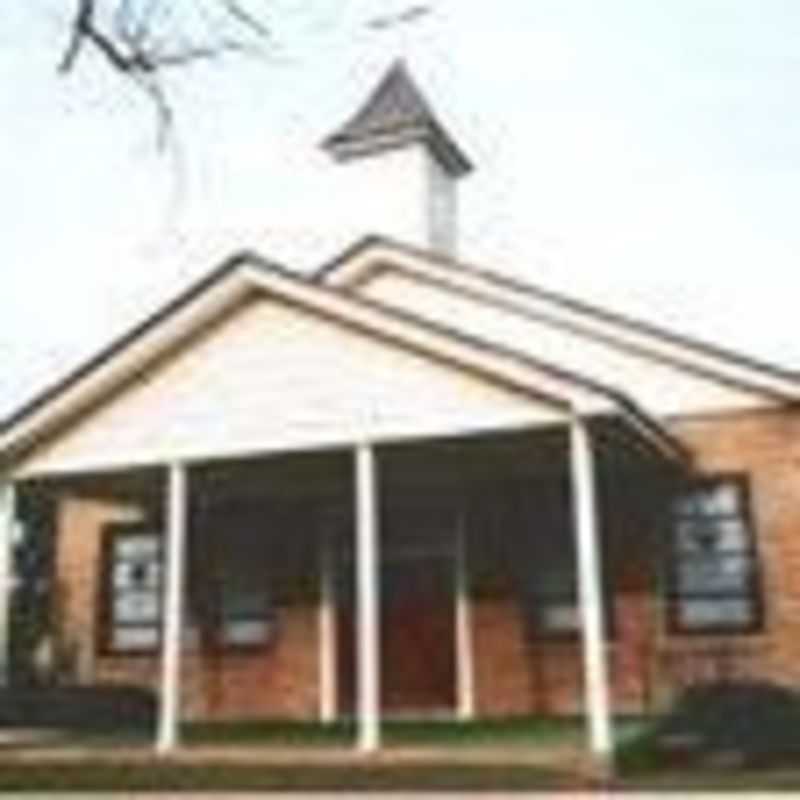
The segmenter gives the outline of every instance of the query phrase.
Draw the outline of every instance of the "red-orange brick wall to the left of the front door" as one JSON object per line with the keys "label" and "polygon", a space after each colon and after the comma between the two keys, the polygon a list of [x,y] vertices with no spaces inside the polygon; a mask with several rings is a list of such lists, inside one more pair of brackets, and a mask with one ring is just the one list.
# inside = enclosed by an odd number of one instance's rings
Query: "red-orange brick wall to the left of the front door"
{"label": "red-orange brick wall to the left of the front door", "polygon": [[[53,606],[57,649],[66,680],[155,689],[157,655],[98,654],[102,529],[136,521],[135,508],[78,496],[59,502]],[[188,719],[313,718],[318,713],[317,607],[300,598],[277,609],[275,641],[249,652],[191,649],[183,658],[182,708]]]}

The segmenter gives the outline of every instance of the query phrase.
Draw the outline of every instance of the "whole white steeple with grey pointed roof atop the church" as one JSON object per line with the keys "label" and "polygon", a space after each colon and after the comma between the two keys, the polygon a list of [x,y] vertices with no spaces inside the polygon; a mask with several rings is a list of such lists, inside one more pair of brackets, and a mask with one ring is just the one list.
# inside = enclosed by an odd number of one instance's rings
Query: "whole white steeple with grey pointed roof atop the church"
{"label": "whole white steeple with grey pointed roof atop the church", "polygon": [[322,147],[348,165],[349,188],[370,206],[370,224],[376,224],[376,209],[387,208],[370,233],[455,255],[457,183],[472,163],[402,60]]}

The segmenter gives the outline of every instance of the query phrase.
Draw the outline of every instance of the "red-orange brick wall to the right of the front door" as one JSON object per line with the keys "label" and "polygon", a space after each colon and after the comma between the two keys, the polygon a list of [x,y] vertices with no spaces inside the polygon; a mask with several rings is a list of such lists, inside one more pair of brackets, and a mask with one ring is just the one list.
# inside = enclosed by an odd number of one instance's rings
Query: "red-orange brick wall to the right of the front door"
{"label": "red-orange brick wall to the right of the front door", "polygon": [[[764,629],[741,636],[667,634],[646,558],[623,552],[628,568],[614,569],[615,635],[608,649],[615,708],[658,707],[683,686],[721,677],[800,688],[800,413],[685,418],[671,428],[692,449],[698,472],[750,476]],[[473,623],[479,714],[581,709],[578,642],[531,640],[511,590],[474,598]]]}

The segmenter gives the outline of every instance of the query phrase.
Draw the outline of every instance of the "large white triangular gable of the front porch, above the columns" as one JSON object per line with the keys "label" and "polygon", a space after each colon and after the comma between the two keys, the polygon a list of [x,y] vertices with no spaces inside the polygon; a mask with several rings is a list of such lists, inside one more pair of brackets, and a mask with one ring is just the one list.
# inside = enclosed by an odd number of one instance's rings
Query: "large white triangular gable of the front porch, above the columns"
{"label": "large white triangular gable of the front porch, above the columns", "polygon": [[125,468],[551,424],[551,408],[264,296],[140,375],[17,465]]}

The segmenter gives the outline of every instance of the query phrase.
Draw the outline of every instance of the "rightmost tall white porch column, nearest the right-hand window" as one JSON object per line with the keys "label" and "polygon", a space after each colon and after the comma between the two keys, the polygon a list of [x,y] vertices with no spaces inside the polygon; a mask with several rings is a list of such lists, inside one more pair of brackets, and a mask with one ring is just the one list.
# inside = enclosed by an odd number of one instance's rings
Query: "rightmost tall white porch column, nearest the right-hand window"
{"label": "rightmost tall white porch column, nearest the right-hand window", "polygon": [[570,421],[570,465],[589,742],[592,755],[601,765],[610,768],[613,743],[595,461],[589,430],[578,416]]}

